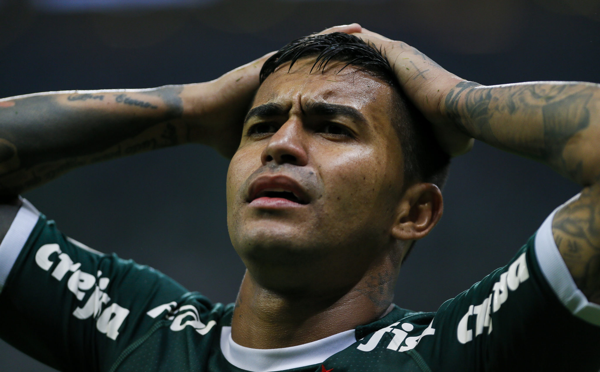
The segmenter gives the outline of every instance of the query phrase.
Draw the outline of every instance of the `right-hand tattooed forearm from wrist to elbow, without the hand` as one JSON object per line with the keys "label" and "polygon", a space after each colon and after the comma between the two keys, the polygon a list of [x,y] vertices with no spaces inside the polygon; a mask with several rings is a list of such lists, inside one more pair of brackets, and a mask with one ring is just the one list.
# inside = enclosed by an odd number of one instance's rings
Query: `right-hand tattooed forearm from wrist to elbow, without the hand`
{"label": "right-hand tattooed forearm from wrist to elbow, without the hand", "polygon": [[588,186],[600,177],[600,86],[457,84],[442,112],[470,137],[550,165]]}

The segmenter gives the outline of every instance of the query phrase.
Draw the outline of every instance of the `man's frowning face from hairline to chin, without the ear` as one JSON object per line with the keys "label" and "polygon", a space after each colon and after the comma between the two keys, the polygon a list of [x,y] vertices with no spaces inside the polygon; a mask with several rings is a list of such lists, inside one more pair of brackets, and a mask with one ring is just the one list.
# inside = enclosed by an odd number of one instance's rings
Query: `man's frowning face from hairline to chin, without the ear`
{"label": "man's frowning face from hairline to chin, without the ear", "polygon": [[392,242],[403,185],[394,90],[353,66],[336,74],[345,63],[310,73],[313,63],[266,78],[227,174],[233,246],[251,274],[282,286],[298,279],[284,283],[290,270],[364,273]]}

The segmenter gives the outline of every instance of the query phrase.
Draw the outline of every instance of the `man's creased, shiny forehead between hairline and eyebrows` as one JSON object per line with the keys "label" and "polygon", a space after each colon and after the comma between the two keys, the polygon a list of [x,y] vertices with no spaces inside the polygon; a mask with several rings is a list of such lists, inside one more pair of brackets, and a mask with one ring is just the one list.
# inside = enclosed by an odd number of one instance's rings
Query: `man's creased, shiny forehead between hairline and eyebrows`
{"label": "man's creased, shiny forehead between hairline and eyebrows", "polygon": [[395,92],[388,84],[355,66],[344,68],[346,62],[331,61],[324,71],[315,66],[311,72],[313,65],[314,59],[308,58],[296,61],[292,69],[289,62],[279,66],[261,84],[253,106],[315,101],[349,105],[362,113],[389,112]]}

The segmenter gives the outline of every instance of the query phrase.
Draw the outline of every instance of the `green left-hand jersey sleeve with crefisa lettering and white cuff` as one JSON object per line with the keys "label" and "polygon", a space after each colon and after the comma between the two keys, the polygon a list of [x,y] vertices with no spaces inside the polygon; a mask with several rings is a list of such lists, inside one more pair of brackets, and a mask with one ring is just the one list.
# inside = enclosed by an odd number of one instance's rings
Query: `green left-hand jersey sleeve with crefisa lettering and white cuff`
{"label": "green left-hand jersey sleeve with crefisa lettering and white cuff", "polygon": [[23,201],[0,244],[0,337],[61,371],[107,370],[151,328],[146,313],[187,291],[66,237]]}

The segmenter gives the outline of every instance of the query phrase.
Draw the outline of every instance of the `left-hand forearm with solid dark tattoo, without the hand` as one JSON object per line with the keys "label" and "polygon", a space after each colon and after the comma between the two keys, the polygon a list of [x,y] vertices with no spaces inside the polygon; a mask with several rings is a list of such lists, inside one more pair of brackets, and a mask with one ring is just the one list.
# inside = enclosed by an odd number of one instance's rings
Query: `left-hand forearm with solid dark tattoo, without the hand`
{"label": "left-hand forearm with solid dark tattoo, without the hand", "polygon": [[79,165],[188,141],[183,86],[50,92],[0,100],[0,195]]}

